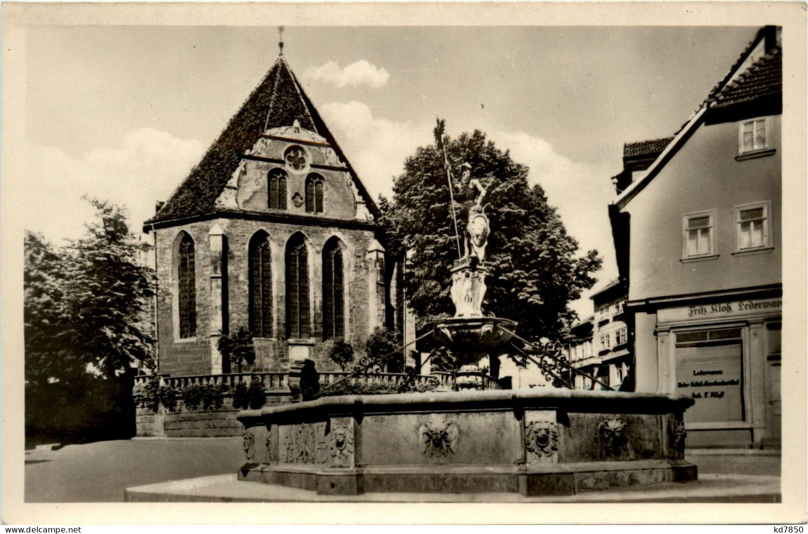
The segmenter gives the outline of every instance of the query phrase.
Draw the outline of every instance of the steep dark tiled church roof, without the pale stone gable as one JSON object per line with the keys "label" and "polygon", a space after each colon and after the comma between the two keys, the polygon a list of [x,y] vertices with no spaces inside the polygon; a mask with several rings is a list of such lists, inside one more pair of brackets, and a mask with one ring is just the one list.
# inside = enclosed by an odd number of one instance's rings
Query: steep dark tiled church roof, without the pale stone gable
{"label": "steep dark tiled church roof, without the pale stone gable", "polygon": [[376,203],[356,176],[292,69],[289,69],[284,56],[278,56],[275,65],[272,65],[258,87],[229,120],[217,140],[208,148],[208,152],[202,156],[202,160],[191,169],[191,173],[171,194],[157,215],[145,221],[145,224],[186,219],[217,211],[214,202],[238,167],[241,155],[252,148],[263,131],[273,127],[292,126],[295,120],[306,130],[316,131],[326,138],[339,159],[345,162],[368,210],[378,217],[380,214]]}

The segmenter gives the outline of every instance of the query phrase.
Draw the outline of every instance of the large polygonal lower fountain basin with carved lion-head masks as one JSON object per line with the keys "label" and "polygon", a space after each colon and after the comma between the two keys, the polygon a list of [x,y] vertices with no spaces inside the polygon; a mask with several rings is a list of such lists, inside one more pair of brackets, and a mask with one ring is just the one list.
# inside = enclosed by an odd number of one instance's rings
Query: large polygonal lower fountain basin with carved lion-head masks
{"label": "large polygonal lower fountain basin with carved lion-head masks", "polygon": [[242,411],[241,480],[317,490],[574,494],[696,479],[678,394],[346,395]]}

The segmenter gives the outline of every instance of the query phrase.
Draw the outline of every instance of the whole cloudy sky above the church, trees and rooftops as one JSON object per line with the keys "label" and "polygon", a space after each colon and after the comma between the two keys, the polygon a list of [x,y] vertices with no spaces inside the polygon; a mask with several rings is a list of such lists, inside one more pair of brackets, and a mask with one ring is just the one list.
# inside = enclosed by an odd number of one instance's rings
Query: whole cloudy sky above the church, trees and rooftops
{"label": "whole cloudy sky above the church, trees and rooftops", "polygon": [[[294,27],[284,56],[374,198],[436,117],[528,165],[582,253],[617,277],[607,205],[623,144],[672,136],[755,27]],[[78,237],[88,194],[154,215],[278,55],[276,27],[32,26],[25,227]],[[496,232],[496,228],[492,229]],[[591,314],[586,297],[572,307]]]}

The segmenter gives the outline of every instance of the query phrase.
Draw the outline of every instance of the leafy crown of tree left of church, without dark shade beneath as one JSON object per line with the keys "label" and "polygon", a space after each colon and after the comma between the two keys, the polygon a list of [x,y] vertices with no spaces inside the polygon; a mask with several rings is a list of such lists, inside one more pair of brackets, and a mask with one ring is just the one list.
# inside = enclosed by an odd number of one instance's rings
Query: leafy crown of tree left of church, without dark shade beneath
{"label": "leafy crown of tree left of church, without dark shade beneath", "polygon": [[54,249],[31,232],[25,238],[26,372],[39,382],[69,380],[88,365],[116,378],[152,357],[145,307],[154,273],[138,261],[148,245],[129,231],[122,207],[88,200],[96,219],[81,239]]}

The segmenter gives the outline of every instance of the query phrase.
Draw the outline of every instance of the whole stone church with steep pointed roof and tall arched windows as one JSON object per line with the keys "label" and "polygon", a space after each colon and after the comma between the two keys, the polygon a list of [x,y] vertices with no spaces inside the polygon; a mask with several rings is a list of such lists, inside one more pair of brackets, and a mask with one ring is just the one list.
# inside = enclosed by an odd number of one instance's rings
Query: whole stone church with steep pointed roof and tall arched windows
{"label": "whole stone church with steep pointed roof and tall arched windows", "polygon": [[[338,339],[357,353],[393,319],[379,211],[281,53],[144,231],[154,236],[158,372],[231,372],[222,334],[248,327],[251,370],[283,372]],[[234,369],[232,369],[234,370]]]}

